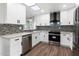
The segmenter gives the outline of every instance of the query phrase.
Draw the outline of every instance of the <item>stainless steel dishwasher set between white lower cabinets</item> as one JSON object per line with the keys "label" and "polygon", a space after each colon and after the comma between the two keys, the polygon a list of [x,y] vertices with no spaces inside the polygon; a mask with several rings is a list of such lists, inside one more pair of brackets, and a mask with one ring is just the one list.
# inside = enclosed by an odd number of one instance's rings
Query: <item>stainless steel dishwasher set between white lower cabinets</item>
{"label": "stainless steel dishwasher set between white lower cabinets", "polygon": [[22,36],[22,56],[28,53],[32,48],[32,35],[23,35]]}

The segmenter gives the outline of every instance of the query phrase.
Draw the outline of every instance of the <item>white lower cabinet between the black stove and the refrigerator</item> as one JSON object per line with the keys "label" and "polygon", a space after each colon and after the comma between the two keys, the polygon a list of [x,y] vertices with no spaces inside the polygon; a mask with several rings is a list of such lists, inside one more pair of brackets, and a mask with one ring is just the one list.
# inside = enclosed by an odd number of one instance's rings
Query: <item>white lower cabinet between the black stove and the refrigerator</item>
{"label": "white lower cabinet between the black stove and the refrigerator", "polygon": [[73,49],[73,32],[61,32],[60,44]]}

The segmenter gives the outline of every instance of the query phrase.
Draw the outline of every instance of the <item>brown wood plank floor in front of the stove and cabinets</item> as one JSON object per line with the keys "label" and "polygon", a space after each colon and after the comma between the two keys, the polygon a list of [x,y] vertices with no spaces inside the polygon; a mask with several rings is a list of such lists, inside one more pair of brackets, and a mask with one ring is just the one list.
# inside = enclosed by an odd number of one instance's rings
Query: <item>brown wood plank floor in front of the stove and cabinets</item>
{"label": "brown wood plank floor in front of the stove and cabinets", "polygon": [[40,43],[33,48],[26,56],[78,56],[79,51],[71,51],[69,48],[58,45],[49,45],[47,43]]}

